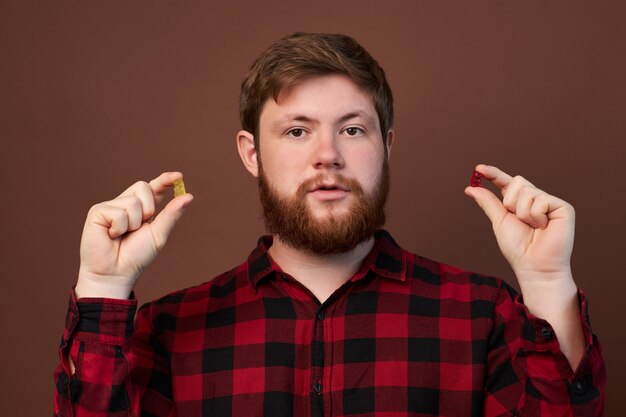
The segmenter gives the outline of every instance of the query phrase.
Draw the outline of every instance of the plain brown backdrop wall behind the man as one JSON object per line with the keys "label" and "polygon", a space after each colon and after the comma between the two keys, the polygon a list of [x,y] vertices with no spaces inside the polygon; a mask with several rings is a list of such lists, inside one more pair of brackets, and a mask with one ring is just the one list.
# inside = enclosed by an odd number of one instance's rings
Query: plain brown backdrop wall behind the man
{"label": "plain brown backdrop wall behind the man", "polygon": [[[385,3],[383,5],[383,3]],[[52,371],[89,207],[183,171],[196,200],[142,301],[238,264],[263,232],[235,151],[239,83],[293,31],[344,32],[394,89],[388,228],[424,256],[513,280],[463,194],[473,166],[577,209],[574,272],[626,407],[626,8],[620,2],[0,4],[0,415],[51,414]],[[620,330],[621,329],[621,330]]]}

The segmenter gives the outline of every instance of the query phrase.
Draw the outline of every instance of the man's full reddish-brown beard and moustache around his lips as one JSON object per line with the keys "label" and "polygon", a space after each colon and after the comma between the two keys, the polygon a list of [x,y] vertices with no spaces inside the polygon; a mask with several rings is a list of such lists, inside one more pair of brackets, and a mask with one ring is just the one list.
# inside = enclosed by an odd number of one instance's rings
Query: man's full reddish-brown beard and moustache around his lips
{"label": "man's full reddish-brown beard and moustache around his lips", "polygon": [[286,245],[317,255],[345,253],[370,239],[385,224],[390,186],[387,159],[371,194],[365,193],[357,180],[333,175],[333,181],[349,190],[354,201],[347,212],[330,212],[324,219],[316,219],[307,207],[307,194],[327,177],[320,174],[310,178],[293,197],[281,197],[268,183],[259,161],[259,194],[268,232]]}

